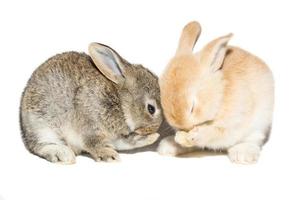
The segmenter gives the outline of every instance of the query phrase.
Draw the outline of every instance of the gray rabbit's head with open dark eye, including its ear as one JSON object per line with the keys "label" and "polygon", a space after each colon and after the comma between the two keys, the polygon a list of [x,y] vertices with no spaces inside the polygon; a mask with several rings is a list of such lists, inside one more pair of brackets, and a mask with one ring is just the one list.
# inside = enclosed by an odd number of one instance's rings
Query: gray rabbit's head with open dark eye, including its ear
{"label": "gray rabbit's head with open dark eye, including its ear", "polygon": [[158,78],[106,45],[92,43],[89,53],[100,72],[115,85],[130,131],[140,135],[156,132],[162,122]]}

